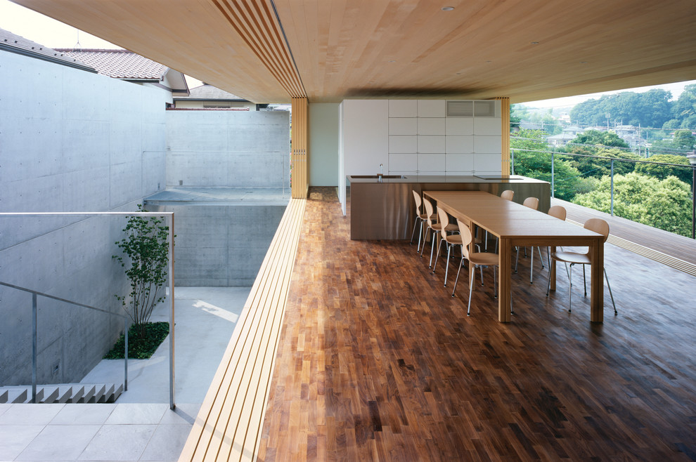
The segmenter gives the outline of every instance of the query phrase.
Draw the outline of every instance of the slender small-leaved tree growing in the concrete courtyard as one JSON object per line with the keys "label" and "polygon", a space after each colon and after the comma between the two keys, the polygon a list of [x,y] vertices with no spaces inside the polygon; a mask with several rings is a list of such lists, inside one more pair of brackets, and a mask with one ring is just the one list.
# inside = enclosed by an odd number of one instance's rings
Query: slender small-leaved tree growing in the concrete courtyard
{"label": "slender small-leaved tree growing in the concrete courtyard", "polygon": [[[138,210],[142,207],[138,205]],[[145,324],[150,320],[153,308],[164,300],[160,291],[167,282],[169,263],[167,236],[169,227],[162,225],[162,218],[131,216],[123,231],[126,237],[115,244],[122,255],[114,255],[131,283],[128,296],[116,295],[123,309],[136,325],[138,336],[145,335]]]}

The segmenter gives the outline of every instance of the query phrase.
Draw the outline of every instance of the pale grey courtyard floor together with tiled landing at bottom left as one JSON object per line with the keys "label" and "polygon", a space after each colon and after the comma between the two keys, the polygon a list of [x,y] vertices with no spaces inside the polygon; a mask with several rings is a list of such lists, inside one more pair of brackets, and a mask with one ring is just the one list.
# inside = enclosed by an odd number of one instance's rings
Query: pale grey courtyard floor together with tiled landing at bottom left
{"label": "pale grey courtyard floor together with tiled landing at bottom left", "polygon": [[[129,359],[128,391],[114,404],[0,404],[0,461],[176,461],[250,287],[174,289],[174,402],[169,337],[150,359]],[[160,305],[152,321],[168,321]],[[122,383],[104,359],[83,383]]]}

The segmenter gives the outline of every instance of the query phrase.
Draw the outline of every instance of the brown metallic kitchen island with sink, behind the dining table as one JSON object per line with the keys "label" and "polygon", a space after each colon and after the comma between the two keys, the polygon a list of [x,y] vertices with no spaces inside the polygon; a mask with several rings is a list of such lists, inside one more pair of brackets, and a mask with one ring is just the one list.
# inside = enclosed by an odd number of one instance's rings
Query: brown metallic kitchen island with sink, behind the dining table
{"label": "brown metallic kitchen island with sink, behind the dining table", "polygon": [[539,210],[550,206],[550,184],[524,176],[425,176],[425,175],[349,175],[347,195],[350,204],[350,238],[411,239],[415,203],[413,192],[485,191],[499,196],[504,190],[515,191],[515,202],[527,197],[539,199]]}

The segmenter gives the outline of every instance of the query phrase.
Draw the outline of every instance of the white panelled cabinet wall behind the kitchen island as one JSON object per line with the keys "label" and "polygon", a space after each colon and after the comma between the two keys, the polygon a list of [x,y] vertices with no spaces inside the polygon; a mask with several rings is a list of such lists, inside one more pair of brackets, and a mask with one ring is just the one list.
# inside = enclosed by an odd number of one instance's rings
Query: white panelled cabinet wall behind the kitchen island
{"label": "white panelled cabinet wall behind the kitchen island", "polygon": [[493,117],[448,117],[446,100],[344,101],[345,174],[501,173],[500,102],[485,103]]}

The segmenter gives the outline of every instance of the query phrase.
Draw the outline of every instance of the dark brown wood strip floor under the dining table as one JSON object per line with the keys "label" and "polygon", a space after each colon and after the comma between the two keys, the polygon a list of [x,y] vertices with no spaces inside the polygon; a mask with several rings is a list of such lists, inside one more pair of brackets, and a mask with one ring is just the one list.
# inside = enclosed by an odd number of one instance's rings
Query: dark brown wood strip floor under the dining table
{"label": "dark brown wood strip floor under the dining table", "polygon": [[490,272],[467,317],[442,260],[348,227],[312,190],[259,460],[696,460],[695,277],[607,245],[619,315],[591,324],[525,259],[500,324]]}

